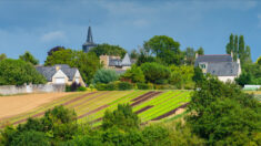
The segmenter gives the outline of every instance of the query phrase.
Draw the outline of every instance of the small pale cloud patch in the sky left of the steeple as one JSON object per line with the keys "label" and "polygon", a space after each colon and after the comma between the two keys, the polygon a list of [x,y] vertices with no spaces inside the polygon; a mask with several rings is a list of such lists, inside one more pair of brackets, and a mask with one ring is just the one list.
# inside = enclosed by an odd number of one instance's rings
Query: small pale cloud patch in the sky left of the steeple
{"label": "small pale cloud patch in the sky left of the steeple", "polygon": [[41,36],[42,42],[52,42],[52,41],[59,41],[59,40],[64,40],[66,34],[63,31],[52,31],[43,34]]}

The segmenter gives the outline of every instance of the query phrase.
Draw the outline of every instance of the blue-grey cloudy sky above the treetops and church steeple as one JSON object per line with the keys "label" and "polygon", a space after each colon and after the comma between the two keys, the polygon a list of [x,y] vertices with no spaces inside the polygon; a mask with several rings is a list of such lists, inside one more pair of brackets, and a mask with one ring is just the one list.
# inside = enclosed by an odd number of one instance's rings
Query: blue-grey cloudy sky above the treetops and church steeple
{"label": "blue-grey cloudy sky above the treetops and church steeple", "polygon": [[233,33],[244,35],[253,61],[261,55],[261,2],[254,0],[0,0],[0,54],[18,59],[29,51],[43,63],[53,46],[81,50],[89,25],[96,43],[128,51],[168,35],[181,50],[224,54]]}

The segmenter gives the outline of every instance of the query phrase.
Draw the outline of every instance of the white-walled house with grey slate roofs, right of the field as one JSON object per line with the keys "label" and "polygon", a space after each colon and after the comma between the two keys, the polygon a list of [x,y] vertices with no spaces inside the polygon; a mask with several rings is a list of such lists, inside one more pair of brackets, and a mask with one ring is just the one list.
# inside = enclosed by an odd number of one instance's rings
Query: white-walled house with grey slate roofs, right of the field
{"label": "white-walled house with grey slate roofs, right of the field", "polygon": [[194,66],[204,74],[218,76],[222,82],[234,81],[241,74],[240,60],[233,61],[233,54],[195,55]]}

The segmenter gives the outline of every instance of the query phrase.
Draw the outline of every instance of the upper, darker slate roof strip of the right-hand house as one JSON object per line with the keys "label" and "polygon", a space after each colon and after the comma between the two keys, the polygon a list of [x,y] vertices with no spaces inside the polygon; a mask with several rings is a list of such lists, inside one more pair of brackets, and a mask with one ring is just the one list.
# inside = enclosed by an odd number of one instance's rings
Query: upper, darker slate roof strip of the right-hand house
{"label": "upper, darker slate roof strip of the right-hand house", "polygon": [[229,54],[221,55],[199,55],[194,62],[194,66],[199,65],[199,62],[232,62],[232,58]]}

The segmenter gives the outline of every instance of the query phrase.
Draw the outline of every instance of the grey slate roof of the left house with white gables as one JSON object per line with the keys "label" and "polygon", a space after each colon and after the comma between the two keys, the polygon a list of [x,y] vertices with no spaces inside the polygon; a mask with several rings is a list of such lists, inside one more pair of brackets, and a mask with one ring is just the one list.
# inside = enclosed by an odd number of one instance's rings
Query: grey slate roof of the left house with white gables
{"label": "grey slate roof of the left house with white gables", "polygon": [[54,66],[36,66],[37,71],[41,73],[48,82],[52,81],[52,76],[57,73],[57,66],[68,76],[69,81],[72,81],[78,69],[70,67],[67,64],[57,64]]}

